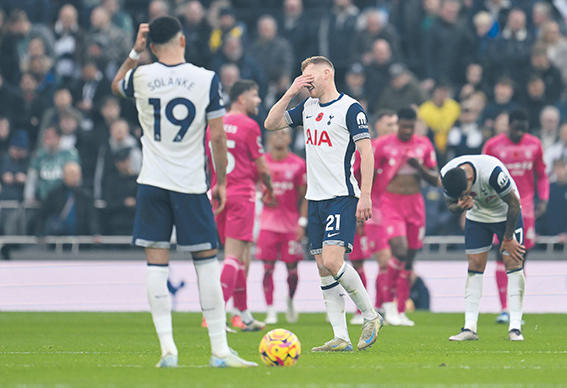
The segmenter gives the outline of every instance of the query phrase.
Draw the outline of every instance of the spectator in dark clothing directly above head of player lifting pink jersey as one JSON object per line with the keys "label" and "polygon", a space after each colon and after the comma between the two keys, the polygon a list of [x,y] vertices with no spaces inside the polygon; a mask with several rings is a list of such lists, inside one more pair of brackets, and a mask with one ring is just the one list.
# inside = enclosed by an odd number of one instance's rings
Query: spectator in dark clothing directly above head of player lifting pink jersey
{"label": "spectator in dark clothing directly above head of player lifting pink jersey", "polygon": [[391,109],[397,112],[405,106],[419,106],[427,100],[427,94],[421,84],[405,65],[392,64],[388,69],[388,76],[390,82],[371,111]]}

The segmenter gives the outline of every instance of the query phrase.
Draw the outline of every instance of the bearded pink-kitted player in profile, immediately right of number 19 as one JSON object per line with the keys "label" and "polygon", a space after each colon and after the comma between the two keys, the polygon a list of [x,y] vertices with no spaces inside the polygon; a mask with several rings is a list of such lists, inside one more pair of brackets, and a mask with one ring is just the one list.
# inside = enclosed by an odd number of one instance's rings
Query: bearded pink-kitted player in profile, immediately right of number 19
{"label": "bearded pink-kitted player in profile, immediately right of number 19", "polygon": [[[228,149],[226,167],[226,206],[216,216],[224,263],[221,284],[225,302],[233,297],[243,331],[265,327],[254,319],[247,306],[246,275],[250,264],[250,242],[253,240],[257,177],[273,197],[268,166],[264,158],[260,127],[249,116],[258,113],[262,101],[254,81],[237,81],[230,91],[230,110],[223,118]],[[269,199],[267,199],[269,202]],[[233,319],[233,325],[240,326]]]}

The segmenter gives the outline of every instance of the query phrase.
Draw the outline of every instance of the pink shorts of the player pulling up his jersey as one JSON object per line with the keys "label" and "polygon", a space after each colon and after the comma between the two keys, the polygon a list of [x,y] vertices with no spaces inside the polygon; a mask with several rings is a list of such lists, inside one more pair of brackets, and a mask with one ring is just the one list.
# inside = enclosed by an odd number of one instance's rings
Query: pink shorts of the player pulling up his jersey
{"label": "pink shorts of the player pulling up his jersey", "polygon": [[386,191],[380,199],[388,241],[405,236],[408,248],[421,248],[425,237],[425,202],[421,193],[402,195]]}

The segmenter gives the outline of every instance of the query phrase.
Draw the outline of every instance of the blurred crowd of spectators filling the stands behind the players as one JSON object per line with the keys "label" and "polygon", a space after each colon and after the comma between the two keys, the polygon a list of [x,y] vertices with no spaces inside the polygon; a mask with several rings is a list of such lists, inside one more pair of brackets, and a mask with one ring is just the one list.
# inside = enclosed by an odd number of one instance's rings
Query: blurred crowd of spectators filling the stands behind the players
{"label": "blurred crowd of spectators filling the stands behind the players", "polygon": [[[37,208],[2,209],[4,234],[131,234],[142,133],[110,82],[139,23],[162,15],[227,100],[238,79],[258,83],[261,126],[312,55],[371,120],[415,106],[440,167],[525,108],[553,182],[539,232],[567,233],[565,0],[0,0],[0,201]],[[301,131],[292,146],[303,155]],[[424,194],[427,234],[458,233],[440,189]]]}

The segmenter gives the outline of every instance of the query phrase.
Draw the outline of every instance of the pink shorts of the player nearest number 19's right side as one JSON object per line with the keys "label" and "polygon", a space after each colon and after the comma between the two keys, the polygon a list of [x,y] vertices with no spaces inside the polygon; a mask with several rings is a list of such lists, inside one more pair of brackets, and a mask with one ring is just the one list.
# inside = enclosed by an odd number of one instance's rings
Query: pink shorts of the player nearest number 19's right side
{"label": "pink shorts of the player nearest number 19's right side", "polygon": [[224,210],[215,217],[219,238],[224,245],[227,237],[252,241],[256,204],[249,197],[227,197]]}

